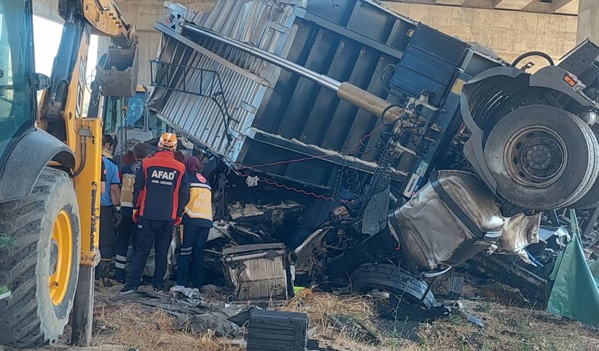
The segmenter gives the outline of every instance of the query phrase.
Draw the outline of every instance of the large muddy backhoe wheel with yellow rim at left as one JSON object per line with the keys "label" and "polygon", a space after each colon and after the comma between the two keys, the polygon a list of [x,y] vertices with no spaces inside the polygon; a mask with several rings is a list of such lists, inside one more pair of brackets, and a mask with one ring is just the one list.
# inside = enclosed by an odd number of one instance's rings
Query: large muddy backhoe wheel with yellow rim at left
{"label": "large muddy backhoe wheel with yellow rim at left", "polygon": [[67,173],[45,168],[33,193],[0,204],[0,345],[32,348],[63,334],[77,287],[79,208]]}

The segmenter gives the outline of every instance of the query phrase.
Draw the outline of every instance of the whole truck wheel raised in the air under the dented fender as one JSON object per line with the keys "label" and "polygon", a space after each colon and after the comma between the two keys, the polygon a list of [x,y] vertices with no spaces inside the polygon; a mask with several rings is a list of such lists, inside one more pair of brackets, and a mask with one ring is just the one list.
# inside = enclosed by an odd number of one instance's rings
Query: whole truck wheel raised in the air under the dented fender
{"label": "whole truck wheel raised in the air under the dented fender", "polygon": [[484,148],[497,193],[522,208],[575,203],[589,192],[599,171],[599,144],[591,128],[555,107],[511,111],[493,127]]}

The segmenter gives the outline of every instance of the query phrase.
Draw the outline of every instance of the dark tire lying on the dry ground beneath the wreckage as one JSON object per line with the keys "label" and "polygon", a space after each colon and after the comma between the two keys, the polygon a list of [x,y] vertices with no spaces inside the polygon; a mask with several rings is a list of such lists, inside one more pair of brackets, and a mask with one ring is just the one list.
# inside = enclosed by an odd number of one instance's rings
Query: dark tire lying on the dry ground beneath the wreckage
{"label": "dark tire lying on the dry ground beneath the wreckage", "polygon": [[[350,279],[353,291],[385,290],[414,306],[420,302],[428,287],[424,281],[394,265],[361,265],[351,274]],[[429,290],[421,307],[428,310],[433,306],[435,295]]]}

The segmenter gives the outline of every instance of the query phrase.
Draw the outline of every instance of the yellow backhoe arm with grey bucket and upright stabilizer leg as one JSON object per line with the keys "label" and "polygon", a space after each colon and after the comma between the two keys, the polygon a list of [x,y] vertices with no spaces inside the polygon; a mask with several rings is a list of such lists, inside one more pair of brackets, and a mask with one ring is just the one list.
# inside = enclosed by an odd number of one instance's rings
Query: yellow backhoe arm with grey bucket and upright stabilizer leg
{"label": "yellow backhoe arm with grey bucket and upright stabilizer leg", "polygon": [[[109,54],[92,84],[100,95],[131,96],[137,87],[137,34],[111,0],[60,0],[65,20],[51,84],[42,94],[37,125],[63,141],[75,155],[70,177],[80,219],[79,279],[74,300],[71,340],[88,345],[93,311],[93,267],[98,264],[102,119],[85,116],[86,63],[91,34],[111,38]],[[100,104],[99,101],[91,105]],[[61,166],[65,166],[64,164]],[[66,168],[66,167],[65,167]],[[52,283],[52,282],[51,282]],[[74,282],[72,282],[74,284]],[[52,288],[51,288],[52,289]]]}

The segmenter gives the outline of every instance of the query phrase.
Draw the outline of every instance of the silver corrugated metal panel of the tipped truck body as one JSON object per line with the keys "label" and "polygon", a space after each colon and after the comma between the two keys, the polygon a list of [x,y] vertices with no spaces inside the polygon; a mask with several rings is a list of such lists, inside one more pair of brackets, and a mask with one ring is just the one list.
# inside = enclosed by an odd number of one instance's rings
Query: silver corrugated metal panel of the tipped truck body
{"label": "silver corrugated metal panel of the tipped truck body", "polygon": [[[280,54],[287,39],[286,33],[295,20],[294,9],[294,6],[279,7],[260,0],[219,1],[212,11],[192,13],[189,20]],[[194,40],[216,54],[207,55],[207,52],[199,52],[180,42],[181,39],[164,36],[165,44],[160,50],[159,61],[177,66],[159,64],[155,70],[157,77],[154,77],[160,80],[160,72],[164,74],[164,71],[170,70],[172,75],[166,86],[179,91],[155,87],[148,106],[195,141],[232,162],[238,162],[245,134],[254,122],[256,111],[270,85],[267,79],[276,81],[280,70],[217,42],[203,38]],[[201,68],[204,72],[186,67]],[[225,127],[221,107],[214,100],[201,96],[206,93],[205,86],[210,85],[208,77],[211,72],[207,71],[218,72],[222,93],[231,113],[228,128]],[[227,139],[227,129],[231,140]]]}

